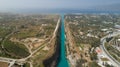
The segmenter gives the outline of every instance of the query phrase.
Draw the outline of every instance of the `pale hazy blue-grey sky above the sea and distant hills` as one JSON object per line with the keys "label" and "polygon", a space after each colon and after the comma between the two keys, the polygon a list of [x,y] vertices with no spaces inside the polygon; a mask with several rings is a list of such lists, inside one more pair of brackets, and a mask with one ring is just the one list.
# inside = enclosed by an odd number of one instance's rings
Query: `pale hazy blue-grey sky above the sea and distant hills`
{"label": "pale hazy blue-grey sky above the sea and distant hills", "polygon": [[116,3],[120,3],[120,0],[0,0],[0,10],[24,8],[89,8]]}

